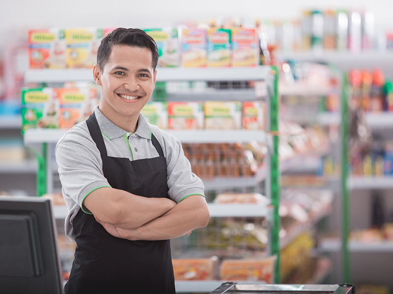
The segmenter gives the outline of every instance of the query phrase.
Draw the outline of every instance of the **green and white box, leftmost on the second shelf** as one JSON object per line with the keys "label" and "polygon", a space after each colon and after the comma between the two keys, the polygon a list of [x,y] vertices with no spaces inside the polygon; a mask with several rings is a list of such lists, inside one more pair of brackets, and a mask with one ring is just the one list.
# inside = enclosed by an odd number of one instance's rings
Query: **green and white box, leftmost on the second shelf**
{"label": "green and white box, leftmost on the second shelf", "polygon": [[59,101],[53,88],[22,89],[22,132],[30,128],[58,128]]}

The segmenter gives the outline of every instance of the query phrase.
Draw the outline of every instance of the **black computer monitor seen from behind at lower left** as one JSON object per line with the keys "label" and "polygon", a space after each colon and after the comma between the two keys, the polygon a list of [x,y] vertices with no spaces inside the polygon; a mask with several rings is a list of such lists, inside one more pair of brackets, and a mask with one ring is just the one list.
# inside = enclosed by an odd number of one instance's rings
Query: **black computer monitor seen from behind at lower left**
{"label": "black computer monitor seen from behind at lower left", "polygon": [[50,199],[0,197],[0,293],[62,294]]}

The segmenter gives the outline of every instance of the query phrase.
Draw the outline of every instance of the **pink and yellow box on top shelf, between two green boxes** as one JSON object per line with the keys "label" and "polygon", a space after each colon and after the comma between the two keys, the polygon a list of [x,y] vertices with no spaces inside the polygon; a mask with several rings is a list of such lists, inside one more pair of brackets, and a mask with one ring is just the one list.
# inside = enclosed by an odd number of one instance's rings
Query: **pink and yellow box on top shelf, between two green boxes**
{"label": "pink and yellow box on top shelf, between two green boxes", "polygon": [[181,29],[181,65],[205,67],[207,60],[207,30],[202,28]]}

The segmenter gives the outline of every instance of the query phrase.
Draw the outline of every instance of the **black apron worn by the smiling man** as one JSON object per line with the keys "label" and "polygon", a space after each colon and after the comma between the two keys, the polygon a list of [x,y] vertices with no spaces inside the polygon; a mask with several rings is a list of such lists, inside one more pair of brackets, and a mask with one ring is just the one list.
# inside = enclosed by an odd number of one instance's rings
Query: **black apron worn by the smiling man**
{"label": "black apron worn by the smiling man", "polygon": [[[94,113],[86,123],[112,188],[144,197],[168,197],[166,159],[153,134],[151,140],[160,156],[130,161],[107,155]],[[75,216],[73,228],[77,246],[66,294],[175,293],[169,240],[113,237],[82,210]]]}

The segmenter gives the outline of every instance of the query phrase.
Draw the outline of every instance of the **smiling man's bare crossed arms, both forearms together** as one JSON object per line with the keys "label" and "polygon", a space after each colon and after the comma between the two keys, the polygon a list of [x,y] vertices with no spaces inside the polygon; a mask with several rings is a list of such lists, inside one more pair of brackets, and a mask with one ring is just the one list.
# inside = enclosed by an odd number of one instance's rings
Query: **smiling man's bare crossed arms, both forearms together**
{"label": "smiling man's bare crossed arms, both forearms together", "polygon": [[192,195],[179,203],[168,198],[147,198],[102,187],[84,198],[84,206],[111,235],[128,240],[166,240],[205,227],[206,201]]}

